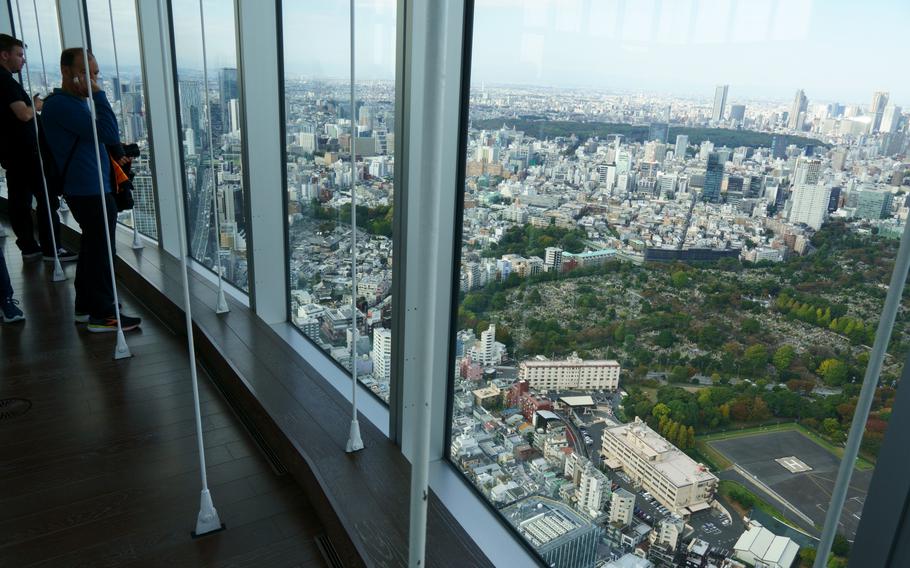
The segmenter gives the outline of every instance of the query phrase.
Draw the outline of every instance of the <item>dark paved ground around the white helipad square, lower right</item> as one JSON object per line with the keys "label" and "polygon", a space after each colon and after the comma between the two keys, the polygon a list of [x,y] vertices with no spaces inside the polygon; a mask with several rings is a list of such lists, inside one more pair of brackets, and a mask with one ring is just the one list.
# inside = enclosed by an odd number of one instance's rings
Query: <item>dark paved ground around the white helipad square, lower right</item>
{"label": "dark paved ground around the white helipad square, lower right", "polygon": [[[827,449],[796,430],[708,443],[816,524],[824,524],[840,465],[839,458]],[[790,456],[811,469],[794,473],[775,461]],[[848,540],[856,535],[871,479],[872,470],[853,470],[840,521],[840,529]]]}

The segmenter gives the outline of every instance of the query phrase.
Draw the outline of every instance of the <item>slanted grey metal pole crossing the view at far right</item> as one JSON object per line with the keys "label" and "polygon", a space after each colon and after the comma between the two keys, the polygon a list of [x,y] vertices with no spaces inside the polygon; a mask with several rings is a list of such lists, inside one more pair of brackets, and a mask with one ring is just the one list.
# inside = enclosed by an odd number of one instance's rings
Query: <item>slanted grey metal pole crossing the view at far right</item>
{"label": "slanted grey metal pole crossing the view at far right", "polygon": [[891,273],[891,284],[888,286],[885,306],[882,308],[881,319],[878,321],[878,329],[875,332],[875,343],[872,344],[872,352],[869,354],[869,364],[866,366],[866,374],[863,377],[863,388],[853,413],[853,422],[850,424],[850,435],[847,437],[844,457],[837,471],[837,481],[831,492],[831,504],[825,514],[825,526],[816,551],[815,568],[825,568],[828,564],[828,554],[834,543],[834,535],[837,532],[844,501],[847,498],[850,478],[853,476],[854,462],[856,462],[856,456],[859,455],[859,446],[866,429],[866,420],[869,419],[869,411],[872,409],[872,399],[875,396],[875,388],[878,386],[882,362],[885,359],[888,342],[891,340],[894,319],[897,316],[904,285],[907,282],[908,268],[910,268],[910,222],[904,224],[904,234],[897,250],[897,258],[894,260],[894,272]]}

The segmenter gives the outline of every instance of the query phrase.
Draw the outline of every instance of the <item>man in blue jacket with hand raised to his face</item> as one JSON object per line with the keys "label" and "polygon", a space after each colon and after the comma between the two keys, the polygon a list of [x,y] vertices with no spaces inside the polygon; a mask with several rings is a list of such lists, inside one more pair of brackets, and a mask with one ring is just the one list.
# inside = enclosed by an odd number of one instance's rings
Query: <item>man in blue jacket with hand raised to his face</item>
{"label": "man in blue jacket with hand raised to his face", "polygon": [[[82,49],[63,51],[60,56],[63,88],[54,89],[54,94],[45,100],[41,121],[54,161],[63,175],[63,195],[82,229],[76,264],[76,321],[87,322],[89,331],[105,332],[117,330],[114,284],[108,264],[108,254],[115,254],[117,204],[111,194],[111,162],[106,145],[118,144],[120,133],[107,95],[98,85],[98,63],[91,54],[89,70],[91,81],[86,84]],[[97,148],[89,96],[95,102]],[[102,188],[98,184],[99,152],[106,219],[101,204]],[[107,248],[105,224],[111,238],[110,249]],[[123,331],[129,331],[138,328],[140,320],[121,313],[120,324]]]}

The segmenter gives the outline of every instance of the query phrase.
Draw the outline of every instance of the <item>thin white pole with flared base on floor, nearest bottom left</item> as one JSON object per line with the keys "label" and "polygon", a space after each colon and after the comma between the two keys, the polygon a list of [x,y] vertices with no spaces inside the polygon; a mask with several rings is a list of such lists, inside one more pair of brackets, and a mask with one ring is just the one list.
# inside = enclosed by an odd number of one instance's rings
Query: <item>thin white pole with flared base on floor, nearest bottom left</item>
{"label": "thin white pole with flared base on floor, nearest bottom left", "polygon": [[[158,30],[160,34],[161,45],[166,45],[166,38],[164,37],[164,28],[166,25],[166,19],[162,14],[161,0],[158,2]],[[171,97],[167,97],[167,110],[168,113],[173,113],[176,115],[176,108],[174,108],[174,100]],[[179,133],[175,133],[179,135]],[[172,145],[173,152],[176,153],[176,145]],[[179,163],[180,157],[176,155],[170,156],[171,160],[174,160],[175,163]],[[174,192],[179,193],[180,188],[174,186]],[[177,238],[180,242],[180,275],[183,283],[183,313],[184,320],[186,322],[186,343],[187,350],[189,353],[189,362],[190,362],[190,377],[193,382],[193,412],[196,421],[196,447],[199,452],[199,475],[202,482],[202,492],[199,497],[199,514],[196,516],[196,530],[193,532],[193,536],[201,536],[215,531],[220,531],[224,529],[224,525],[221,524],[221,519],[218,516],[218,510],[215,509],[215,505],[212,502],[212,495],[209,492],[208,477],[206,475],[206,466],[205,466],[205,445],[202,438],[202,416],[199,408],[199,377],[196,373],[196,345],[193,341],[193,313],[190,305],[190,284],[189,284],[189,269],[187,267],[186,257],[189,249],[187,248],[186,240],[186,224],[184,223],[184,211],[183,211],[183,201],[181,196],[177,195],[174,199],[174,207],[177,212]]]}

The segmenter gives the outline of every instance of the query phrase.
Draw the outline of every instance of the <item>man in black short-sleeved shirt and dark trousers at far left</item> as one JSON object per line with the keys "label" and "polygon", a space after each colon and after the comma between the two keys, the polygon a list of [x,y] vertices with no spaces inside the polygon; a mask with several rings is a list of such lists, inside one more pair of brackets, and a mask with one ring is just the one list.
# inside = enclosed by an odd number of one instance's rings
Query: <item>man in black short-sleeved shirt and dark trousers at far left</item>
{"label": "man in black short-sleeved shirt and dark trousers at far left", "polygon": [[[47,200],[41,179],[41,162],[38,158],[38,141],[35,137],[35,111],[32,101],[22,86],[13,78],[25,64],[22,42],[12,36],[0,34],[0,165],[6,170],[6,185],[9,189],[9,216],[16,234],[16,245],[22,251],[22,258],[31,259],[44,255],[47,261],[54,260],[53,243],[58,244],[57,258],[61,261],[76,260],[76,254],[62,247],[60,243],[60,219],[56,195],[49,195],[51,201],[48,218]],[[36,106],[40,99],[36,97]],[[41,110],[40,107],[38,110]],[[38,201],[38,239],[32,224],[32,197]],[[51,231],[54,238],[51,238]]]}

